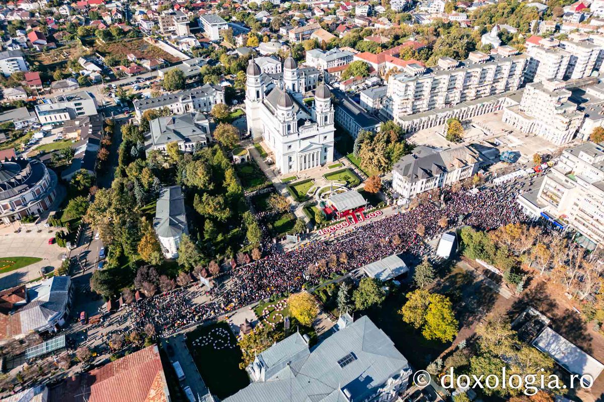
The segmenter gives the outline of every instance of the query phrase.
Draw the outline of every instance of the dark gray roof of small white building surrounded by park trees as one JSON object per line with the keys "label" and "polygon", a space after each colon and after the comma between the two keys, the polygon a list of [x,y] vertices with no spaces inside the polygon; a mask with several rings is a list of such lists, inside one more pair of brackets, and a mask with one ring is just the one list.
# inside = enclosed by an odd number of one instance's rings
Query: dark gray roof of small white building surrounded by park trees
{"label": "dark gray roof of small white building surrounded by park trees", "polygon": [[153,228],[159,237],[177,237],[188,233],[185,197],[181,186],[159,190]]}

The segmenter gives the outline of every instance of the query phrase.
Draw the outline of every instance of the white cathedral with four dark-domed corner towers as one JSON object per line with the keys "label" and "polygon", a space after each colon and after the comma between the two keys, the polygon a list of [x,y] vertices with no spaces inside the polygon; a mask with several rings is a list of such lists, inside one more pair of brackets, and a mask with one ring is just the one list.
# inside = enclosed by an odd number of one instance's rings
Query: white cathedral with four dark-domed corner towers
{"label": "white cathedral with four dark-domed corner towers", "polygon": [[266,77],[254,60],[246,74],[248,132],[271,148],[281,174],[333,162],[334,112],[327,86],[317,87],[309,109],[302,100],[304,77],[292,57],[283,63],[281,80]]}

